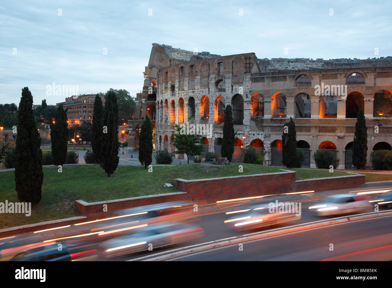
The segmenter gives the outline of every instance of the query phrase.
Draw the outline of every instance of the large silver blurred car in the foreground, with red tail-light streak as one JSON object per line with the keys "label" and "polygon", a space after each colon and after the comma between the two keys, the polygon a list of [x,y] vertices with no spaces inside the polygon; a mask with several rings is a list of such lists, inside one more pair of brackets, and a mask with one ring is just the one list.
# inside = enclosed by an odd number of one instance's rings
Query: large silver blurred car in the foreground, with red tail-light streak
{"label": "large silver blurred car in the foreground, with red tail-light streak", "polygon": [[104,241],[98,252],[105,258],[155,250],[203,236],[203,228],[189,224],[163,223],[146,226],[144,230],[131,235]]}

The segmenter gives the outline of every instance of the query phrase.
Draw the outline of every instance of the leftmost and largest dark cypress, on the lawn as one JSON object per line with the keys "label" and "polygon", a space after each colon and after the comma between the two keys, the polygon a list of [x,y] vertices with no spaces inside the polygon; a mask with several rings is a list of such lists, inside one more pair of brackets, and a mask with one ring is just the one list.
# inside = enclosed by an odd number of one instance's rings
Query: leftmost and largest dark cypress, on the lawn
{"label": "leftmost and largest dark cypress, on the lawn", "polygon": [[33,96],[28,87],[22,89],[18,116],[15,190],[20,201],[37,204],[42,197],[44,173],[42,172],[41,139],[33,116]]}

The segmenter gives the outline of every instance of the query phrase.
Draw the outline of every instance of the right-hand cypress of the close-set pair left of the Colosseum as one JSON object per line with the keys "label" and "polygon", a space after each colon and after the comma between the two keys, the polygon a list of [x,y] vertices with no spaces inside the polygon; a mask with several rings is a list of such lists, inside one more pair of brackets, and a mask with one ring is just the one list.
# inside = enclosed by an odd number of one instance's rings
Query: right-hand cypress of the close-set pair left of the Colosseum
{"label": "right-hand cypress of the close-set pair left of the Colosseum", "polygon": [[[118,117],[115,114],[117,105],[116,94],[113,91],[109,91],[105,103],[105,119],[103,120],[103,126],[106,126],[107,130],[102,130],[103,133],[103,145],[101,150],[102,155],[102,168],[105,170],[107,177],[117,169],[118,160],[118,132],[117,132],[117,121]],[[104,133],[107,132],[107,133]]]}

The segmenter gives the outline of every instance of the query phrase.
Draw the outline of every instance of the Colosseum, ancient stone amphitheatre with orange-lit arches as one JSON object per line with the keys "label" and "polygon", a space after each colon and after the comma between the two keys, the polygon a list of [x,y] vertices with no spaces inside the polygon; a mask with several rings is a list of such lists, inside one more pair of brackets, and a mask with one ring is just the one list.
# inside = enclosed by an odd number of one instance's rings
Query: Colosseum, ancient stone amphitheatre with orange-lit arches
{"label": "Colosseum, ancient stone amphitheatre with orange-lit arches", "polygon": [[[152,120],[154,149],[174,152],[174,124],[213,127],[203,137],[205,152],[220,153],[226,105],[233,109],[237,132],[232,161],[253,146],[265,165],[281,164],[281,135],[290,117],[297,147],[305,151],[302,167],[316,167],[313,152],[331,149],[339,168],[351,163],[356,116],[365,112],[370,152],[391,150],[392,57],[361,59],[260,59],[255,53],[229,56],[175,49],[153,43],[143,90],[128,121],[129,147],[138,147],[145,115]],[[204,152],[204,153],[205,153]],[[187,159],[187,155],[172,154]]]}

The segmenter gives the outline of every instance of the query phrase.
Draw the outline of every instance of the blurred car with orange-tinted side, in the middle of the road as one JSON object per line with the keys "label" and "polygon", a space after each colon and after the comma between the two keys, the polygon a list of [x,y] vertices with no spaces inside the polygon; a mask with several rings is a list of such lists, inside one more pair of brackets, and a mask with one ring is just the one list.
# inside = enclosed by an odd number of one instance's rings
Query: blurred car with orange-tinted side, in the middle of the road
{"label": "blurred car with orange-tinted side, in the middle of the road", "polygon": [[[270,212],[269,208],[270,205],[253,206],[244,212],[236,213],[224,223],[234,230],[252,230],[301,219],[301,216],[296,216],[298,214],[294,212]],[[230,213],[234,212],[227,214]]]}

